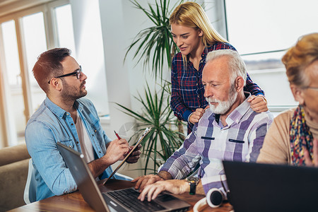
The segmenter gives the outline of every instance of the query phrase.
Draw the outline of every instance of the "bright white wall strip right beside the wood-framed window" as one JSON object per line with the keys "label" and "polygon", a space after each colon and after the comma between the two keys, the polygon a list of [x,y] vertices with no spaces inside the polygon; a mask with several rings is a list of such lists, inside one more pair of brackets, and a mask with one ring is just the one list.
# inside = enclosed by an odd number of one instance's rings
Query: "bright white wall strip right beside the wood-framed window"
{"label": "bright white wall strip right beside the wood-framed window", "polygon": [[[100,114],[108,114],[105,56],[98,0],[71,0],[76,60],[86,80],[87,98]],[[74,52],[74,49],[72,49]]]}

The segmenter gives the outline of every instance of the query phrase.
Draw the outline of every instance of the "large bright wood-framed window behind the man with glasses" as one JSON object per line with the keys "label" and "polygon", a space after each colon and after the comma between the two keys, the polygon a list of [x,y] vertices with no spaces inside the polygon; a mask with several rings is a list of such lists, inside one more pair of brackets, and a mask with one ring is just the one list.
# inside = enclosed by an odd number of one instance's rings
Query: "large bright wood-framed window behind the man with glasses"
{"label": "large bright wood-framed window behind the man with glasses", "polygon": [[0,147],[24,142],[26,122],[45,99],[32,73],[37,56],[61,46],[75,53],[72,23],[65,0],[0,12]]}

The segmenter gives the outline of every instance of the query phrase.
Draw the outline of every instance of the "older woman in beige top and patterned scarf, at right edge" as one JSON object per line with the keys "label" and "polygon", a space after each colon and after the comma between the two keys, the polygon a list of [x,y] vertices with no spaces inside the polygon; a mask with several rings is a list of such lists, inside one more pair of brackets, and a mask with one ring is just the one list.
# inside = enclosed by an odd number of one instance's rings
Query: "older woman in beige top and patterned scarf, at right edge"
{"label": "older woman in beige top and patterned scarf, at right edge", "polygon": [[282,61],[299,105],[274,119],[257,162],[317,166],[318,33],[301,37]]}

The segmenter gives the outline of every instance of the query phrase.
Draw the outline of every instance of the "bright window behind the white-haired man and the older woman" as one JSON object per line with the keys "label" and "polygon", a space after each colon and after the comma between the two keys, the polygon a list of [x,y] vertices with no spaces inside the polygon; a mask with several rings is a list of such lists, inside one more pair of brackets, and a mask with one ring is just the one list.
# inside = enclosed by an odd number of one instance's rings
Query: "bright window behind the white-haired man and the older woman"
{"label": "bright window behind the white-haired man and the older woman", "polygon": [[298,105],[281,57],[301,35],[318,31],[315,0],[225,0],[228,40],[265,92],[271,109]]}

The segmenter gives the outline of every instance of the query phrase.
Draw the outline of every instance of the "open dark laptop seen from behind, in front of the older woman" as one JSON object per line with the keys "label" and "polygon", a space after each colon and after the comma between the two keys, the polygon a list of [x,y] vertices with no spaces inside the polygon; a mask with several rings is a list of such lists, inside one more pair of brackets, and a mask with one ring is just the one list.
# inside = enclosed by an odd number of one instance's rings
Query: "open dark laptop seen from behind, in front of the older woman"
{"label": "open dark laptop seen from behind, in front of the older woman", "polygon": [[223,161],[235,212],[318,211],[318,168]]}

